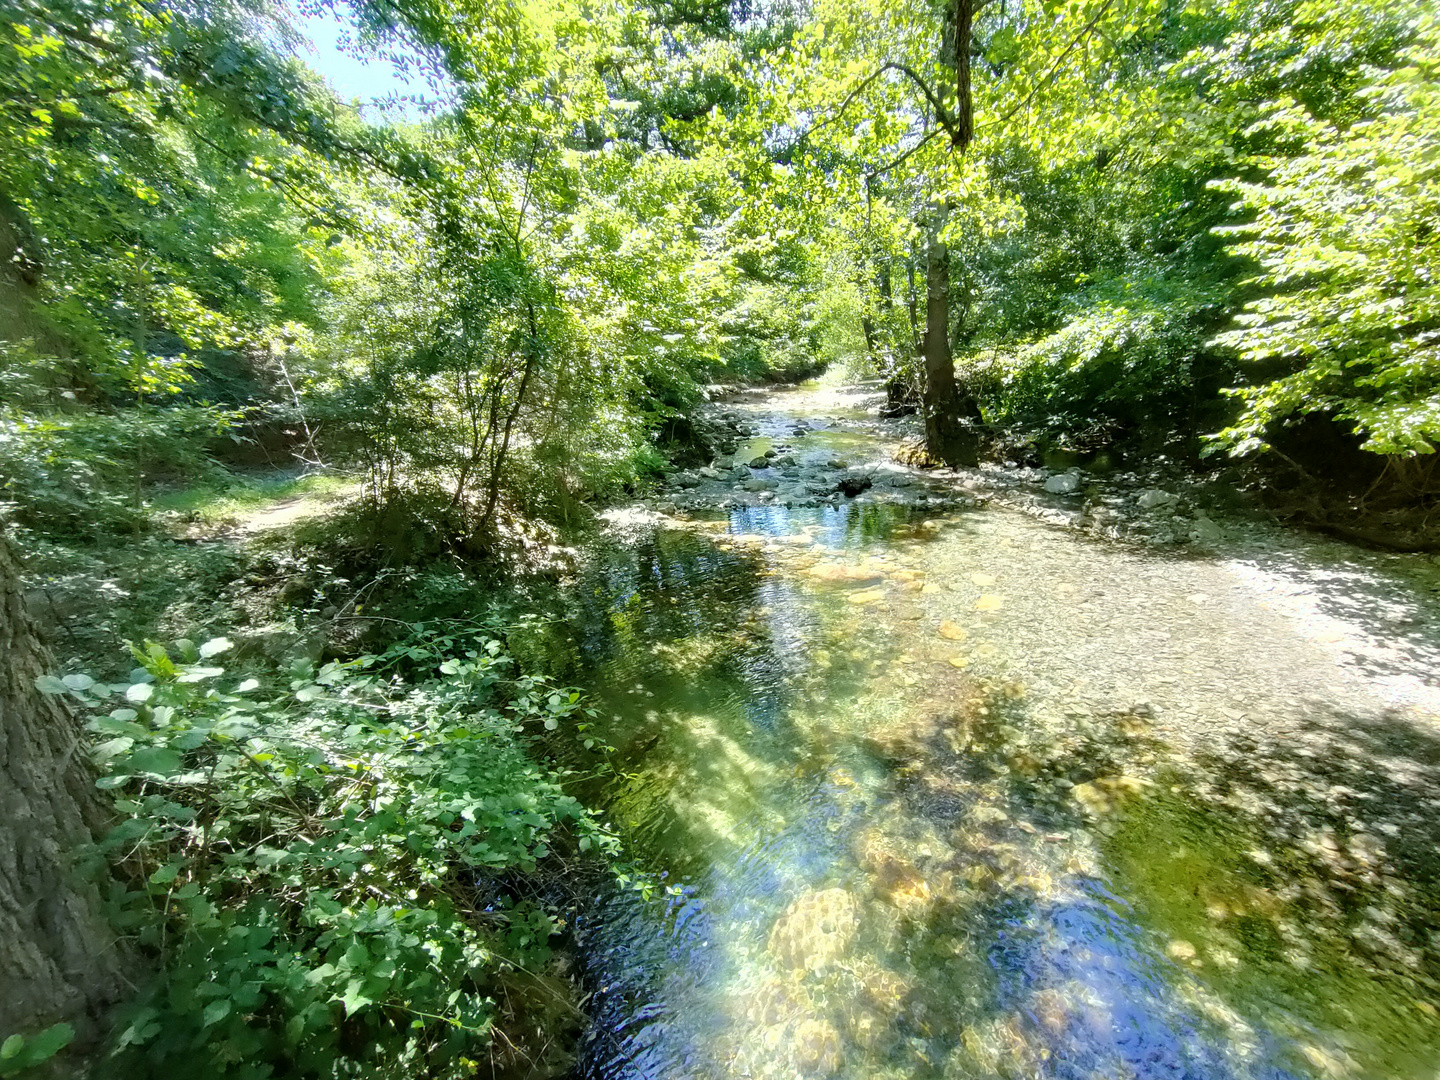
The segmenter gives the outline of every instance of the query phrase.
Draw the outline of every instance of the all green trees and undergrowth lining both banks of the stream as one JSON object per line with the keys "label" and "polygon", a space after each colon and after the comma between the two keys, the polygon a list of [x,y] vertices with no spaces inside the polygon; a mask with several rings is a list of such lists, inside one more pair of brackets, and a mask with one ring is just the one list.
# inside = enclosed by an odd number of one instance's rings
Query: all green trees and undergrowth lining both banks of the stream
{"label": "all green trees and undergrowth lining both banks of the stream", "polygon": [[4,1012],[0,1074],[86,1008],[137,1074],[524,1057],[497,981],[547,999],[553,914],[505,876],[618,855],[540,763],[583,697],[452,621],[723,454],[714,383],[845,366],[933,464],[1234,461],[1433,540],[1426,4],[327,6],[412,69],[389,111],[279,4],[0,7],[0,497],[164,972],[118,1028],[114,981]]}

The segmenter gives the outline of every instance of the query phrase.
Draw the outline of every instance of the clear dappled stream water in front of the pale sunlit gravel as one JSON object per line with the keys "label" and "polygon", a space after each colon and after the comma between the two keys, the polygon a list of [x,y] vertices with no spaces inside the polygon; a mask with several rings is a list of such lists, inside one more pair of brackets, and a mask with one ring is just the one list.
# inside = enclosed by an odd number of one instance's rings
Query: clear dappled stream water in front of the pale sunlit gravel
{"label": "clear dappled stream water in front of the pale sunlit gravel", "polygon": [[1313,708],[1179,759],[1143,710],[1044,727],[959,672],[897,708],[903,644],[747,537],[860,560],[923,520],[716,526],[615,544],[573,595],[616,747],[592,795],[687,883],[579,913],[577,1076],[1437,1074],[1433,734]]}

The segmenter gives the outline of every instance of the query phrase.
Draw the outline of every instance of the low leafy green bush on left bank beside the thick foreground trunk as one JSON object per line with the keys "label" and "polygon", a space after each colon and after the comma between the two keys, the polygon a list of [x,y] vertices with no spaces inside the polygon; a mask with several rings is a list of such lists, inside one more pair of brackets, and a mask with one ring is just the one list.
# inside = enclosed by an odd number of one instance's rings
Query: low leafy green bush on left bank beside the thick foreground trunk
{"label": "low leafy green bush on left bank beside the thick foreground trunk", "polygon": [[480,876],[615,840],[527,744],[583,730],[579,696],[498,641],[416,632],[382,655],[236,678],[230,648],[147,642],[128,681],[45,677],[94,714],[120,825],[118,926],[163,963],[109,1073],[461,1077],[494,985],[556,926]]}

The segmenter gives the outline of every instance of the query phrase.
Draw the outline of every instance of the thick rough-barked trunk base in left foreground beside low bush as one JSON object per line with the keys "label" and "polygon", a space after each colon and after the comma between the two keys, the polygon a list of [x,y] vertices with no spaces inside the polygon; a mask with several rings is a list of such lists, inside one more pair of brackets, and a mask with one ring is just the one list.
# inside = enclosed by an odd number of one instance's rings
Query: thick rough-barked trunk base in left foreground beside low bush
{"label": "thick rough-barked trunk base in left foreground beside low bush", "polygon": [[72,864],[108,814],[79,724],[35,688],[48,670],[0,526],[0,1041],[69,1021],[84,1048],[121,996],[124,958]]}

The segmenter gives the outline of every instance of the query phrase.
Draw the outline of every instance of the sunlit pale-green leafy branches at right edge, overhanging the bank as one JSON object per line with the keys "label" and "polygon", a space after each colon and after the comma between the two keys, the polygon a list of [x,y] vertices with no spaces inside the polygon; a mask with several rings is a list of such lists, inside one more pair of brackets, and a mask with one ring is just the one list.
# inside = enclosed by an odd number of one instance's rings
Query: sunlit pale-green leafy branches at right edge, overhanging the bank
{"label": "sunlit pale-green leafy branches at right edge, overhanging the bank", "polygon": [[1272,423],[1312,412],[1348,422],[1380,454],[1428,454],[1440,438],[1440,24],[1410,62],[1374,76],[1371,114],[1348,127],[1299,105],[1270,125],[1306,151],[1228,183],[1253,222],[1228,228],[1266,294],[1220,341],[1290,370],[1238,392],[1223,444],[1248,451]]}

